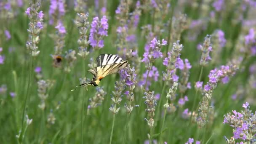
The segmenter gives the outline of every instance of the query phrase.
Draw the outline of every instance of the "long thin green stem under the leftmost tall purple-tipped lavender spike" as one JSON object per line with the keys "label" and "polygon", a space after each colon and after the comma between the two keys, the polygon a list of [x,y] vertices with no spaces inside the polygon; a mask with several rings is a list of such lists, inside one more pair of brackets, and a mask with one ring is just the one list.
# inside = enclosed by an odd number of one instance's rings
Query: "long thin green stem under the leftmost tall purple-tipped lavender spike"
{"label": "long thin green stem under the leftmost tall purple-tipped lavender spike", "polygon": [[[29,101],[29,87],[30,87],[30,81],[31,81],[31,74],[32,74],[32,56],[30,56],[30,60],[29,60],[29,81],[28,81],[28,85],[27,85],[27,93],[26,93],[26,97],[25,97],[25,101],[24,101],[24,107],[23,107],[23,112],[22,112],[22,117],[21,117],[21,137],[23,135],[23,124],[24,124],[24,117],[25,117],[25,109],[26,109],[26,104],[27,104],[27,99]],[[20,139],[21,143],[23,141],[23,138]]]}

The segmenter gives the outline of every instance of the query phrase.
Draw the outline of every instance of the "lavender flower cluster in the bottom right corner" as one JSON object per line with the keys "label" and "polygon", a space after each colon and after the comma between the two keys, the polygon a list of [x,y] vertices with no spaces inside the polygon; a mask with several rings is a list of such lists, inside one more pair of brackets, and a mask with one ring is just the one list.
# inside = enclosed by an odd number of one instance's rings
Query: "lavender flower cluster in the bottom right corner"
{"label": "lavender flower cluster in the bottom right corner", "polygon": [[[254,114],[249,107],[249,103],[246,102],[243,104],[244,111],[237,112],[233,110],[233,115],[229,112],[224,115],[224,124],[229,124],[233,128],[233,136],[234,139],[242,139],[246,143],[255,142],[256,136],[256,113]],[[231,139],[231,141],[234,141]],[[232,144],[226,138],[227,144]]]}

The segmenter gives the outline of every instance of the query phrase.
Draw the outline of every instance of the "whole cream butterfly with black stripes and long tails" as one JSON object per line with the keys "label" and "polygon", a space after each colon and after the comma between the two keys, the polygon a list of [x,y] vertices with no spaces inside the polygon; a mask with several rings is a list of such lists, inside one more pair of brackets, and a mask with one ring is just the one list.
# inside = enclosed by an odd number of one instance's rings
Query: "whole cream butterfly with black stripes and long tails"
{"label": "whole cream butterfly with black stripes and long tails", "polygon": [[[89,83],[83,83],[76,87],[84,87],[86,85],[98,86],[99,82],[110,74],[115,74],[120,69],[123,69],[127,64],[127,60],[123,60],[119,56],[113,54],[101,54],[97,57],[97,67],[89,69],[88,72],[93,74],[93,79]],[[71,91],[74,91],[72,89]]]}

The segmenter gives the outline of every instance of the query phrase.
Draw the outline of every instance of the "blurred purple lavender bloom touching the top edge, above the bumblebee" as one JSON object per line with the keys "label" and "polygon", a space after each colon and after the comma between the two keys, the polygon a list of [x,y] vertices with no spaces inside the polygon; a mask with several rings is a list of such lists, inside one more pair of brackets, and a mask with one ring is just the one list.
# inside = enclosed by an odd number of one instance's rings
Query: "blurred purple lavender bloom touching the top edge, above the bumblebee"
{"label": "blurred purple lavender bloom touching the top edge, above the bumblebee", "polygon": [[49,24],[56,24],[61,16],[65,14],[65,6],[64,0],[50,0],[50,8],[49,8]]}

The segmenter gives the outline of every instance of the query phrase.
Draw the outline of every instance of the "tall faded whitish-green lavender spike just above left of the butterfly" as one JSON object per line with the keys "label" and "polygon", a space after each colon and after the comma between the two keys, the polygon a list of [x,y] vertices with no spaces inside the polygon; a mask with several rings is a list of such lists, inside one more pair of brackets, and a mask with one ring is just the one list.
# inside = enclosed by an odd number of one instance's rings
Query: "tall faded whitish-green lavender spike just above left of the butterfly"
{"label": "tall faded whitish-green lavender spike just above left of the butterfly", "polygon": [[77,19],[75,20],[75,25],[77,26],[78,30],[79,30],[79,34],[80,37],[77,40],[77,43],[79,45],[78,49],[79,52],[77,53],[77,55],[85,58],[88,54],[89,51],[87,50],[88,45],[89,45],[89,41],[87,40],[87,31],[88,28],[90,27],[89,21],[88,21],[88,16],[89,13],[77,13]]}

